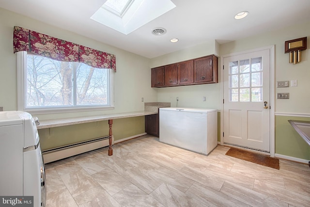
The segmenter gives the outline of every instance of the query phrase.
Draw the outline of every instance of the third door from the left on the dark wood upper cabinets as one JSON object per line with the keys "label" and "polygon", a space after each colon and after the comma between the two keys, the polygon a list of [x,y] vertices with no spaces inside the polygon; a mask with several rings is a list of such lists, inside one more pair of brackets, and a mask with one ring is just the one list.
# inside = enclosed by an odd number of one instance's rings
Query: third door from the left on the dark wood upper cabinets
{"label": "third door from the left on the dark wood upper cabinets", "polygon": [[194,82],[194,61],[178,63],[178,83],[186,84]]}

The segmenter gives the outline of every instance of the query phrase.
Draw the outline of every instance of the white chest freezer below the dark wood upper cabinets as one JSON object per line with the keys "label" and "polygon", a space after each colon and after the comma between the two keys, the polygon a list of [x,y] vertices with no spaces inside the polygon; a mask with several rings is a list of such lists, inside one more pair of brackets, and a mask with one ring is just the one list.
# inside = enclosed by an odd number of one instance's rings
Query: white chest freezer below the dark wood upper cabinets
{"label": "white chest freezer below the dark wood upper cabinets", "polygon": [[217,110],[160,108],[159,141],[208,155],[217,146]]}

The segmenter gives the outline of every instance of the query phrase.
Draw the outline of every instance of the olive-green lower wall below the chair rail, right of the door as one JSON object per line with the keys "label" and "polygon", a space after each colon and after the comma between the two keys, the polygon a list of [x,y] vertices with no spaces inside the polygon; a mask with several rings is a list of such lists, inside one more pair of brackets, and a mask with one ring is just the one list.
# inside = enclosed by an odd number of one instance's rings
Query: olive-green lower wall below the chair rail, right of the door
{"label": "olive-green lower wall below the chair rail, right of the door", "polygon": [[310,121],[309,117],[276,116],[276,154],[310,160],[310,146],[295,131],[288,120]]}

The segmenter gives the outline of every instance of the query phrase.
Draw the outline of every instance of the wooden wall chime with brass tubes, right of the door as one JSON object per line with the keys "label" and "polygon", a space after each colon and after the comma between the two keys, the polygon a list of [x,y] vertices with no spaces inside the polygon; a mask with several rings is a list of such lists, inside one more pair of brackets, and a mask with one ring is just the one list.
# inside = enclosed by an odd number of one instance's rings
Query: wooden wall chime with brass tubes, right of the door
{"label": "wooden wall chime with brass tubes, right of the door", "polygon": [[290,53],[289,63],[301,61],[301,50],[307,49],[307,37],[285,41],[285,53]]}

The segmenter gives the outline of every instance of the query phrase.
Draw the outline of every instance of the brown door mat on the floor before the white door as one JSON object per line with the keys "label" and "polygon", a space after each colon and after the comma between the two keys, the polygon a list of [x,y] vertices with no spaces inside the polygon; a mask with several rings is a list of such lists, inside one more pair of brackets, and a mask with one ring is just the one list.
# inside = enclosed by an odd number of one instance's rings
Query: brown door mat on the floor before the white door
{"label": "brown door mat on the floor before the white door", "polygon": [[278,169],[278,170],[280,169],[279,159],[271,158],[271,157],[261,155],[258,153],[253,153],[253,152],[249,152],[249,151],[237,149],[237,148],[230,148],[226,152],[225,155],[228,155],[234,158],[243,159],[249,162],[254,162],[256,164],[271,167],[274,169]]}

